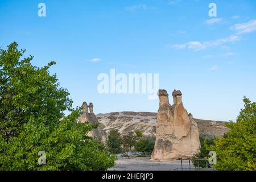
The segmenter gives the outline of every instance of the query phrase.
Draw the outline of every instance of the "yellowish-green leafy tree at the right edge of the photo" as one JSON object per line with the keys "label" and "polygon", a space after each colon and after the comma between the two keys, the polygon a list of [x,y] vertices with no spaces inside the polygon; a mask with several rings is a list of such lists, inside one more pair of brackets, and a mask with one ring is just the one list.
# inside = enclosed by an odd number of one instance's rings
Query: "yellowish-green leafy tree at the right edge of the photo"
{"label": "yellowish-green leafy tree at the right edge of the photo", "polygon": [[216,151],[218,170],[256,170],[256,103],[244,97],[237,122],[226,124],[230,131],[209,150]]}

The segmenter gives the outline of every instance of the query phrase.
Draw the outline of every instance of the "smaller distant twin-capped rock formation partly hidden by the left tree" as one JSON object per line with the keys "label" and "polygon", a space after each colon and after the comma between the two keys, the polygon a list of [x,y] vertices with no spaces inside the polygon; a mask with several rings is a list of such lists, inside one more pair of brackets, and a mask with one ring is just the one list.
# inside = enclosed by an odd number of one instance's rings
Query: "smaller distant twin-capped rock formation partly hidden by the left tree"
{"label": "smaller distant twin-capped rock formation partly hidden by the left tree", "polygon": [[[88,110],[90,111],[90,113]],[[89,122],[89,125],[98,125],[97,129],[94,129],[88,133],[88,136],[97,137],[102,142],[106,141],[104,129],[102,128],[100,122],[98,122],[98,119],[94,114],[92,102],[90,102],[89,105],[87,105],[86,102],[82,104],[82,115],[79,117],[79,122]]]}

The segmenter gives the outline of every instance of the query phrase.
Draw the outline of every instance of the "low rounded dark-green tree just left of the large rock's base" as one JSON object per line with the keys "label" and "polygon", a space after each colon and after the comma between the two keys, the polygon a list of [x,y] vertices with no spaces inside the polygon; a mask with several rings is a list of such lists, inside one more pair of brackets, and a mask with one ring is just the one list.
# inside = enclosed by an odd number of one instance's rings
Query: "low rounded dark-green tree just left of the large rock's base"
{"label": "low rounded dark-green tree just left of the large rock's base", "polygon": [[150,139],[141,139],[138,140],[138,142],[135,143],[135,150],[138,152],[142,152],[143,155],[146,154],[146,152],[151,153],[154,150],[155,143],[152,142]]}

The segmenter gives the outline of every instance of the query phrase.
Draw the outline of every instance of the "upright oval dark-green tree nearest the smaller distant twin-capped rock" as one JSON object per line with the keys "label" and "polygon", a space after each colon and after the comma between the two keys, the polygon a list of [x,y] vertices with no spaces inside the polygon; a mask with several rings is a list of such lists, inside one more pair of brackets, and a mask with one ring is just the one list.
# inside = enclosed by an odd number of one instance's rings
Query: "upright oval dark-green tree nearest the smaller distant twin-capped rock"
{"label": "upright oval dark-green tree nearest the smaller distant twin-capped rock", "polygon": [[122,137],[118,130],[110,130],[106,143],[112,154],[119,154],[122,152]]}

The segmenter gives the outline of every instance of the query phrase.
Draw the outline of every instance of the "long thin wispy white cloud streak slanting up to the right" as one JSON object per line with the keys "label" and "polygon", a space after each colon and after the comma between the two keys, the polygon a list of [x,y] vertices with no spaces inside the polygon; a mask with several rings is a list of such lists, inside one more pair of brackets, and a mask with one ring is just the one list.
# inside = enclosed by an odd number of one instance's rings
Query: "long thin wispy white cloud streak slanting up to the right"
{"label": "long thin wispy white cloud streak slanting up to the right", "polygon": [[[215,46],[222,46],[222,44],[229,43],[229,42],[235,42],[237,40],[240,40],[240,36],[232,35],[227,38],[213,40],[213,41],[206,41],[206,42],[188,42],[184,44],[176,44],[174,46],[171,46],[171,48],[175,49],[192,49],[194,51],[200,51],[209,47],[215,47]],[[170,46],[168,46],[170,47]]]}

